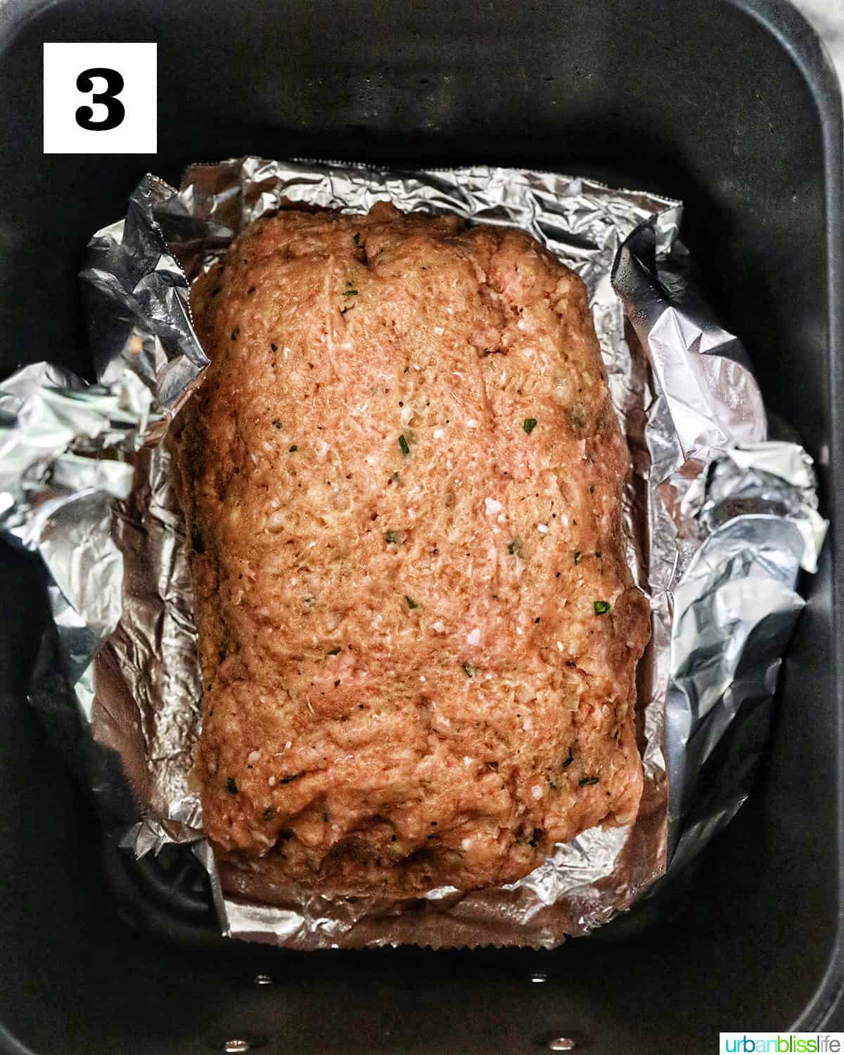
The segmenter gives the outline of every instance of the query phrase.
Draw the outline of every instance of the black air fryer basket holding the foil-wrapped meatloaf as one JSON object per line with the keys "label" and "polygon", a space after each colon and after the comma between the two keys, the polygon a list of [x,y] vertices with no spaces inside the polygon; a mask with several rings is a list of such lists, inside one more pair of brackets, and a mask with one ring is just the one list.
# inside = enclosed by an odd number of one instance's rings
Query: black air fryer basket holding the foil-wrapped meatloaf
{"label": "black air fryer basket holding the foil-wrapped meatloaf", "polygon": [[[44,41],[155,40],[148,156],[41,153]],[[90,372],[76,271],[147,169],[241,153],[584,173],[682,197],[684,235],[833,521],[759,787],[657,907],[553,953],[294,954],[218,937],[189,860],[139,867],[25,703],[37,563],[0,551],[0,1050],[714,1050],[841,992],[841,102],[785,0],[7,0],[0,368]],[[840,471],[838,471],[840,472]],[[234,1049],[236,1050],[236,1049]],[[245,1049],[242,1049],[245,1050]]]}

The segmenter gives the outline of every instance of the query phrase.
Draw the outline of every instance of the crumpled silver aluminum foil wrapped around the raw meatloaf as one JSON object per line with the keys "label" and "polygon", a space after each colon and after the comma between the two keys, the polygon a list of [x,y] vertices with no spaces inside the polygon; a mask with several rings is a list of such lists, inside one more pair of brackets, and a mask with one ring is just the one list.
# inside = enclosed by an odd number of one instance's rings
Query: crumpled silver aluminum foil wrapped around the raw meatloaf
{"label": "crumpled silver aluminum foil wrapped around the raw meatloaf", "polygon": [[[628,560],[650,599],[636,822],[590,829],[522,880],[404,902],[224,893],[190,776],[202,717],[184,524],[161,440],[207,359],[188,290],[251,220],[301,205],[457,213],[521,228],[582,276],[631,449]],[[54,625],[31,698],[122,845],[192,843],[224,933],[299,948],[551,947],[646,895],[748,794],[826,521],[811,459],[766,439],[747,357],[677,237],[679,203],[524,170],[397,172],[247,157],[147,176],[81,275],[100,384],[40,364],[0,386],[0,530],[38,551]],[[68,743],[66,735],[64,736]],[[236,880],[232,882],[235,883]],[[254,891],[254,885],[248,890]]]}

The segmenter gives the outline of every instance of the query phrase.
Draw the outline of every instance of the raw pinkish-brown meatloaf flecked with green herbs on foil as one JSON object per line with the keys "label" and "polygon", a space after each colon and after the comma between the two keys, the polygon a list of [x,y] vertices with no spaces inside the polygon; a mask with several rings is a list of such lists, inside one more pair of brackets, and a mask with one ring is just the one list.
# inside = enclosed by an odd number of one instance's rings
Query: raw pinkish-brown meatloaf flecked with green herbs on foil
{"label": "raw pinkish-brown meatloaf flecked with green herbs on foil", "polygon": [[648,606],[579,277],[379,204],[257,220],[192,306],[212,363],[175,456],[229,886],[468,890],[631,822]]}

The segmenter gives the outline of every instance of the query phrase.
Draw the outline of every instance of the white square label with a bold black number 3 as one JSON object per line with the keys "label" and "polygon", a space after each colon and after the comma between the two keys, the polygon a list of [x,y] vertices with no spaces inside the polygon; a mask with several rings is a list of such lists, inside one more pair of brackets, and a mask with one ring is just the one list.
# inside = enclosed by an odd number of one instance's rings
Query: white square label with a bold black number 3
{"label": "white square label with a bold black number 3", "polygon": [[154,154],[155,49],[44,44],[44,153]]}

